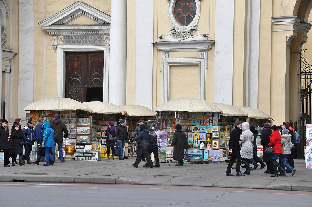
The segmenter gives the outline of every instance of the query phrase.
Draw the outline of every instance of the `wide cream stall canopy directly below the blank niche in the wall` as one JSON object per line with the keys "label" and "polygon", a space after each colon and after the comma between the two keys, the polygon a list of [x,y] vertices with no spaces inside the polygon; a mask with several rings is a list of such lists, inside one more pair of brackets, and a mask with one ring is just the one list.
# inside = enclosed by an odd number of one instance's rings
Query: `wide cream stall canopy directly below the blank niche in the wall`
{"label": "wide cream stall canopy directly below the blank niche in the wall", "polygon": [[178,98],[160,104],[153,111],[220,112],[217,106],[196,98]]}

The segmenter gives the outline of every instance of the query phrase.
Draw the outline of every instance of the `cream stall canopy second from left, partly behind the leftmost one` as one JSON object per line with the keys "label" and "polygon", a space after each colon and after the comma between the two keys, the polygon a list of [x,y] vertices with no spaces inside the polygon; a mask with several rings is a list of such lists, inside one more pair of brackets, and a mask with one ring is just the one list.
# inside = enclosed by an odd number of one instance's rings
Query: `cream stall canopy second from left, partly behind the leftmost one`
{"label": "cream stall canopy second from left, partly behind the leftmost one", "polygon": [[83,104],[91,108],[95,114],[119,114],[126,112],[124,109],[116,106],[115,104],[103,101],[88,101]]}

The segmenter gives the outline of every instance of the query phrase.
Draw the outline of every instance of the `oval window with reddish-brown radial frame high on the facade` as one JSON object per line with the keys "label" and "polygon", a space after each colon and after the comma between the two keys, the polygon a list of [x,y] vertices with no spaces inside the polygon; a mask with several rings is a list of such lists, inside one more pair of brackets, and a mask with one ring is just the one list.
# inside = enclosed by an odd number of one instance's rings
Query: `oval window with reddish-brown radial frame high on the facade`
{"label": "oval window with reddish-brown radial frame high on the facade", "polygon": [[188,26],[196,14],[195,0],[177,0],[174,5],[174,16],[182,26]]}

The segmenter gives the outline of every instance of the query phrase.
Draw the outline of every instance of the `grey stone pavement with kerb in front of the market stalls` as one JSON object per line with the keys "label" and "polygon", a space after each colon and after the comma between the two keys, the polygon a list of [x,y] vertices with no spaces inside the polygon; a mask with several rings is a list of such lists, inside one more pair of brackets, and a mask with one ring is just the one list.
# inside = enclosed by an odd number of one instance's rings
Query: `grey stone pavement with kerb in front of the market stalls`
{"label": "grey stone pavement with kerb in front of the market stalls", "polygon": [[[101,183],[101,184],[143,184],[171,186],[206,186],[229,188],[256,188],[291,191],[312,191],[312,169],[305,169],[303,159],[295,159],[294,176],[270,177],[263,173],[266,168],[251,171],[243,177],[225,176],[227,163],[184,164],[175,167],[175,163],[160,163],[160,168],[135,168],[136,157],[108,161],[66,161],[57,160],[53,166],[25,164],[24,166],[2,167],[0,161],[0,181],[26,180],[26,182],[65,182],[65,183]],[[245,169],[241,169],[244,172]],[[236,171],[232,169],[232,173]]]}

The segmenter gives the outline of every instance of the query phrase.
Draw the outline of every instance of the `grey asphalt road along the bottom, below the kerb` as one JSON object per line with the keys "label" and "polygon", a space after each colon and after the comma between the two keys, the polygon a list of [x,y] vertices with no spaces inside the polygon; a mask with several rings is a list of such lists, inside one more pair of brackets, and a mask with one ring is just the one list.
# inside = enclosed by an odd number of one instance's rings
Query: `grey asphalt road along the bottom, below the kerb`
{"label": "grey asphalt road along the bottom, below the kerb", "polygon": [[0,182],[0,195],[1,207],[310,207],[312,192],[188,186]]}

